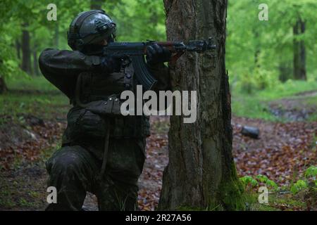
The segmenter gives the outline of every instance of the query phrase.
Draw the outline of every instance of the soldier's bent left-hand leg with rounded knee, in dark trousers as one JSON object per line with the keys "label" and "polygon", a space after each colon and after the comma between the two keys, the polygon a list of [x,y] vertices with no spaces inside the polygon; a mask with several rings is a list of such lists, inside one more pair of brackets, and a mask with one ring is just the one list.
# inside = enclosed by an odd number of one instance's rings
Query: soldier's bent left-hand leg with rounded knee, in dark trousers
{"label": "soldier's bent left-hand leg with rounded knee, in dark trousers", "polygon": [[97,166],[85,148],[67,146],[56,151],[46,162],[48,186],[57,189],[57,203],[46,210],[82,210],[86,191],[91,191]]}

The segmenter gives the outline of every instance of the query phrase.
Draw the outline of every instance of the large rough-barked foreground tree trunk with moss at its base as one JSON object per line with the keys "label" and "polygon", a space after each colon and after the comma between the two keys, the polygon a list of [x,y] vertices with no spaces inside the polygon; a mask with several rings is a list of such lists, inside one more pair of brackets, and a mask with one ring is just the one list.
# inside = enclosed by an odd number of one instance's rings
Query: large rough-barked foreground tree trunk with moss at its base
{"label": "large rough-barked foreground tree trunk with moss at its base", "polygon": [[208,39],[210,52],[186,53],[170,68],[173,89],[197,91],[197,121],[170,117],[168,166],[163,173],[161,210],[243,209],[242,186],[232,158],[230,89],[225,70],[226,0],[165,0],[169,40]]}

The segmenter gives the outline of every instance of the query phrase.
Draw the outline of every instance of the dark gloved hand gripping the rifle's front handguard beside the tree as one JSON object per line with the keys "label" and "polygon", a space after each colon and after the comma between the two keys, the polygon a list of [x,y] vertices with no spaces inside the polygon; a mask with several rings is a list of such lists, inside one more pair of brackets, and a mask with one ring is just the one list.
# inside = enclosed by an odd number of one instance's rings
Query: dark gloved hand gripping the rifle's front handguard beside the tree
{"label": "dark gloved hand gripping the rifle's front handguard beside the tree", "polygon": [[166,47],[159,44],[151,44],[147,46],[147,64],[150,66],[156,66],[170,61],[171,53]]}

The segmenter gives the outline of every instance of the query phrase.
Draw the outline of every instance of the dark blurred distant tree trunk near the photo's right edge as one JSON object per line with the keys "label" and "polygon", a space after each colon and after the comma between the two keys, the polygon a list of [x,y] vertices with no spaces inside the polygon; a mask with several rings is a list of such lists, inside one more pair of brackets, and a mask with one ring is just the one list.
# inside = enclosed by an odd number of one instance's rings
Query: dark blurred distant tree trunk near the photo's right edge
{"label": "dark blurred distant tree trunk near the photo's right edge", "polygon": [[298,40],[297,36],[304,34],[305,22],[299,18],[293,27],[294,34],[294,79],[306,80],[306,52],[304,40]]}

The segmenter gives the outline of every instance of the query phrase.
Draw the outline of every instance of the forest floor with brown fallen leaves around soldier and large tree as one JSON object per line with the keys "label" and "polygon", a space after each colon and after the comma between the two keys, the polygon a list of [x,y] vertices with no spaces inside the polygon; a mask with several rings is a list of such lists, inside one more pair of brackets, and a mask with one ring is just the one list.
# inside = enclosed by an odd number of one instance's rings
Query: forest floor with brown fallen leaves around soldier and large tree
{"label": "forest floor with brown fallen leaves around soldier and large tree", "polygon": [[[246,99],[232,98],[232,103],[248,104]],[[266,101],[261,110],[276,120],[250,118],[235,113],[233,107],[238,176],[266,175],[280,187],[270,192],[268,205],[252,197],[250,210],[317,210],[316,193],[290,192],[294,182],[304,179],[304,171],[317,164],[316,99],[317,90],[310,90]],[[67,99],[51,89],[10,91],[0,96],[0,103],[6,105],[0,108],[0,210],[44,210],[48,194],[44,162],[60,145]],[[245,125],[258,127],[259,139],[242,136]],[[147,160],[139,179],[139,210],[154,210],[158,204],[168,164],[168,127],[168,117],[151,117]],[[94,195],[87,195],[85,209],[97,210]]]}

